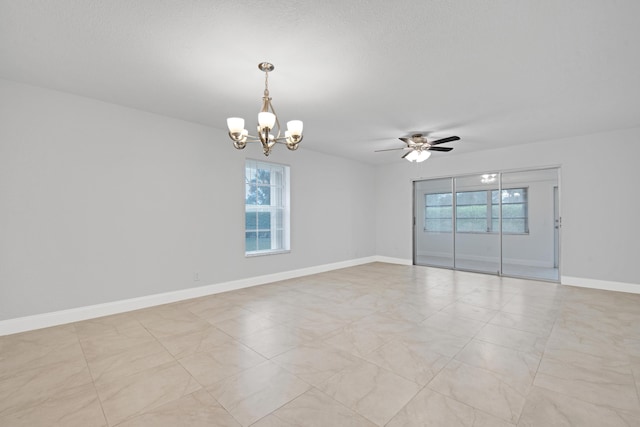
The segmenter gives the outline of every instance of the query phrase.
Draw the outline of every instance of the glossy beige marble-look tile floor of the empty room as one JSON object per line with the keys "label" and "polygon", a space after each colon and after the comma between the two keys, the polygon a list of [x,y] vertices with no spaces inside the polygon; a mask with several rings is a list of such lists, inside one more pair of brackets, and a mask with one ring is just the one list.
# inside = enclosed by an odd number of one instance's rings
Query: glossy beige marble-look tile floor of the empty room
{"label": "glossy beige marble-look tile floor of the empty room", "polygon": [[0,337],[0,426],[640,426],[640,295],[374,263]]}

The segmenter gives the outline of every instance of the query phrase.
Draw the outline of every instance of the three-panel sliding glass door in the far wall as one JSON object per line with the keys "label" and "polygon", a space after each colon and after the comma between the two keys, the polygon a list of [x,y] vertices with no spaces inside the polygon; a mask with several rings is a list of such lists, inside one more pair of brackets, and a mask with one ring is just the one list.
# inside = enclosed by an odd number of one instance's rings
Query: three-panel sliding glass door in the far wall
{"label": "three-panel sliding glass door in the far wall", "polygon": [[414,182],[414,264],[558,281],[558,172]]}

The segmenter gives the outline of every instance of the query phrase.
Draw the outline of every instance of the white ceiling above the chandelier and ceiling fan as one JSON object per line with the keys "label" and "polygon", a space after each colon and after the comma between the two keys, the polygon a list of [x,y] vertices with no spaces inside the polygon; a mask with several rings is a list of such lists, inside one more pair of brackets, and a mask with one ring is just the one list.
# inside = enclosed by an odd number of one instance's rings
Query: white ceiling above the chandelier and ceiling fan
{"label": "white ceiling above the chandelier and ceiling fan", "polygon": [[637,0],[0,0],[0,77],[252,128],[269,61],[301,149],[379,164],[414,131],[462,138],[434,158],[640,126],[638,17]]}

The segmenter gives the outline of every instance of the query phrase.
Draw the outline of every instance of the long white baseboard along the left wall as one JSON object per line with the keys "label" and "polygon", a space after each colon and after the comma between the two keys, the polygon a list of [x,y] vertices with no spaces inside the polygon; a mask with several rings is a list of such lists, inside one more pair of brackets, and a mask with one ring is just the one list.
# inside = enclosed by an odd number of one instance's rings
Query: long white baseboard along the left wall
{"label": "long white baseboard along the left wall", "polygon": [[[381,259],[381,258],[384,258]],[[0,336],[16,334],[19,332],[31,331],[34,329],[48,328],[51,326],[64,325],[67,323],[79,322],[96,317],[109,316],[112,314],[124,313],[127,311],[140,310],[142,308],[156,305],[169,304],[172,302],[198,298],[206,295],[218,294],[221,292],[233,291],[236,289],[248,288],[251,286],[264,285],[266,283],[280,280],[293,279],[296,277],[308,276],[311,274],[323,273],[325,271],[337,270],[340,268],[354,267],[371,262],[392,262],[394,258],[371,256],[347,261],[340,261],[331,264],[317,265],[313,267],[301,268],[298,270],[284,271],[281,273],[266,274],[263,276],[248,277],[246,279],[233,280],[230,282],[215,283],[212,285],[198,286],[196,288],[182,289],[179,291],[165,292],[161,294],[147,295],[138,298],[107,302],[85,307],[71,308],[68,310],[54,311],[51,313],[36,314],[33,316],[18,317],[0,321]],[[401,260],[402,261],[402,260]]]}

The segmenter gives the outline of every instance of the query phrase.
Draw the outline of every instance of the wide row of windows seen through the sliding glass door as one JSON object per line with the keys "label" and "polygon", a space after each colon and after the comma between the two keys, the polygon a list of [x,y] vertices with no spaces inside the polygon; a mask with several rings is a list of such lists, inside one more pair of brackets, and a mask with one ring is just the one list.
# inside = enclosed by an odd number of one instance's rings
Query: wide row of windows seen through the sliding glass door
{"label": "wide row of windows seen through the sliding glass door", "polygon": [[[498,190],[456,193],[457,233],[498,233],[500,200]],[[452,193],[425,194],[424,230],[450,233],[452,230]],[[526,188],[502,190],[502,232],[529,232]]]}

